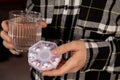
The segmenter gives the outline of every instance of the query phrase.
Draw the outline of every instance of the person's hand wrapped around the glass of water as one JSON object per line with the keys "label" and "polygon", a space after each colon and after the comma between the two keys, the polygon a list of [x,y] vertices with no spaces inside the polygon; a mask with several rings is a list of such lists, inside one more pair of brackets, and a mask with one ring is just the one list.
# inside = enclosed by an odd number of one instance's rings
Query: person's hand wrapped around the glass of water
{"label": "person's hand wrapped around the glass of water", "polygon": [[[42,28],[45,28],[47,26],[45,21],[42,21]],[[0,31],[0,36],[3,39],[3,45],[10,50],[12,54],[19,55],[20,53],[14,50],[14,45],[12,44],[12,39],[10,36],[8,36],[9,26],[8,26],[8,20],[4,20],[1,23],[2,31]]]}

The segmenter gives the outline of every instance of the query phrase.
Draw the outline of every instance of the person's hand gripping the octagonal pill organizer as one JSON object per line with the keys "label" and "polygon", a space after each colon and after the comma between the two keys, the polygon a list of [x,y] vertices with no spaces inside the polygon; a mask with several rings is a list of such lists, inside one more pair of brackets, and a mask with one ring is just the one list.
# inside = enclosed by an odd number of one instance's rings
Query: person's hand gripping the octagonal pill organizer
{"label": "person's hand gripping the octagonal pill organizer", "polygon": [[68,51],[72,52],[72,56],[58,66],[57,69],[44,71],[43,76],[61,76],[66,73],[74,73],[82,69],[86,63],[87,52],[84,41],[72,41],[67,44],[63,44],[60,47],[52,51],[55,55],[61,55]]}

